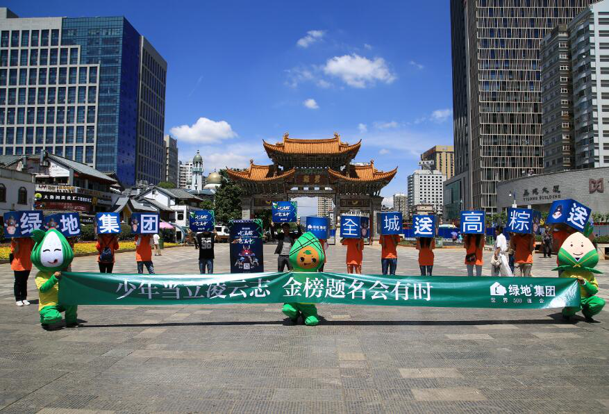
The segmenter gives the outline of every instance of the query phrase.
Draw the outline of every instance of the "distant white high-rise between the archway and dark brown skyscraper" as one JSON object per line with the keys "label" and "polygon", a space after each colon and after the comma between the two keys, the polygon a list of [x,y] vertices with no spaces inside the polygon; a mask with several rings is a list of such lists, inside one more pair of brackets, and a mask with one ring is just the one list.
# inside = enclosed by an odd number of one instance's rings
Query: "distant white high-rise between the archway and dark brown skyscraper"
{"label": "distant white high-rise between the archway and dark brown skyscraper", "polygon": [[431,204],[435,214],[442,215],[444,209],[443,183],[446,176],[442,172],[416,169],[408,176],[408,210],[415,210],[420,204]]}

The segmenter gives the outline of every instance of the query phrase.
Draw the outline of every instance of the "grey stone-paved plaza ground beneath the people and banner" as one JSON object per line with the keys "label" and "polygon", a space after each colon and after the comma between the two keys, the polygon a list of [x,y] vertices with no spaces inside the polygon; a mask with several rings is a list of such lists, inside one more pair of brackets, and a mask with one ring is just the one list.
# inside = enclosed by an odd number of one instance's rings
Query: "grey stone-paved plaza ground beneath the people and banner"
{"label": "grey stone-paved plaza ground beneath the people and banner", "polygon": [[[273,251],[265,246],[266,270]],[[332,246],[326,270],[343,272],[344,256]],[[379,256],[366,247],[366,273],[380,273]],[[434,273],[466,274],[464,256],[437,250]],[[216,272],[228,271],[227,245],[216,257]],[[398,273],[419,274],[416,258],[401,248]],[[97,270],[94,260],[73,269]],[[192,247],[154,262],[158,273],[197,272]],[[533,274],[552,276],[555,263],[535,255]],[[115,270],[134,272],[134,253],[117,254]],[[29,288],[36,299],[33,276]],[[326,321],[308,327],[285,324],[280,310],[81,306],[83,327],[47,332],[37,305],[15,306],[0,265],[1,413],[609,412],[604,311],[589,324],[557,310],[322,305]]]}

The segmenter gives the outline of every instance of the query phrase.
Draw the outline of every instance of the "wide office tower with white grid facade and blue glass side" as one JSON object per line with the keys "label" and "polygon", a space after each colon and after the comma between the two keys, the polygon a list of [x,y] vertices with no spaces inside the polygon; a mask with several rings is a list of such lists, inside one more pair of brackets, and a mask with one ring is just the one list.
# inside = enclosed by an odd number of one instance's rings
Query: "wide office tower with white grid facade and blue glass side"
{"label": "wide office tower with white grid facade and blue glass side", "polygon": [[46,150],[123,185],[162,181],[166,67],[124,17],[0,8],[1,154]]}

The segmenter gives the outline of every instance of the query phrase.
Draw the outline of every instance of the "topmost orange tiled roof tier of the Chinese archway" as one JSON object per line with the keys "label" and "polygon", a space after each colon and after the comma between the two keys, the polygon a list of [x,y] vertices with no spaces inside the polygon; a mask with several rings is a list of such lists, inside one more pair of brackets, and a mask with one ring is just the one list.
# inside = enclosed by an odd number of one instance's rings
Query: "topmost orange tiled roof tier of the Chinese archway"
{"label": "topmost orange tiled roof tier of the Chinese archway", "polygon": [[262,140],[267,153],[281,152],[284,154],[343,154],[349,151],[358,151],[362,144],[360,140],[357,144],[349,145],[340,141],[340,135],[334,134],[334,138],[324,140],[297,140],[288,138],[287,133],[283,135],[283,141],[276,144],[269,144]]}

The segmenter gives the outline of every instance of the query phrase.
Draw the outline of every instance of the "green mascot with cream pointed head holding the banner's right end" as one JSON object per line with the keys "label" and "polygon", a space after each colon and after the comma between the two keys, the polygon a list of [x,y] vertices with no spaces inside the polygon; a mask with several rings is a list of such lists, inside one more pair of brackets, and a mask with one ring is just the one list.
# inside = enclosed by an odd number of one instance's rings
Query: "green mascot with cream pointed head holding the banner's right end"
{"label": "green mascot with cream pointed head holding the banner's right end", "polygon": [[582,233],[569,235],[558,250],[558,267],[560,277],[575,277],[581,284],[581,306],[562,309],[562,316],[569,319],[581,311],[586,320],[592,320],[605,306],[603,298],[595,296],[599,292],[599,283],[594,277],[595,273],[602,273],[594,269],[599,263],[599,254],[590,239]]}

